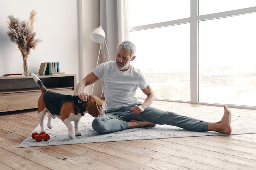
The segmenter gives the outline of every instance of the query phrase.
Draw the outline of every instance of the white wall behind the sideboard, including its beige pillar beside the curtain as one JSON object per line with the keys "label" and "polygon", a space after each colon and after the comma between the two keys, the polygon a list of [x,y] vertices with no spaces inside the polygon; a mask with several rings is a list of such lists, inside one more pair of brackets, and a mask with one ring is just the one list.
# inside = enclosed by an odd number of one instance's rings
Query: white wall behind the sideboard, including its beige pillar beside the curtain
{"label": "white wall behind the sideboard, including its beige pillar beside the curtain", "polygon": [[[60,62],[61,72],[77,74],[80,81],[97,63],[99,44],[90,40],[90,33],[99,26],[99,0],[0,0],[0,76],[23,73],[22,55],[6,34],[7,17],[27,20],[33,9],[36,38],[43,42],[31,50],[29,72],[37,73],[42,62]],[[85,92],[91,94],[91,89]],[[94,92],[101,95],[100,82]]]}

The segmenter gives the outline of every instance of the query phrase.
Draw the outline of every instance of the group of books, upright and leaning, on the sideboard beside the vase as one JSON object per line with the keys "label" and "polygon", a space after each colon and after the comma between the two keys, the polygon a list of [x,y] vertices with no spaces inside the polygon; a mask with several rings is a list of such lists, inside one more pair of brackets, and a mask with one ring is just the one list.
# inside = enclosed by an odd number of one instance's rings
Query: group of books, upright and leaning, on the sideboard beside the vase
{"label": "group of books, upright and leaning, on the sideboard beside the vase", "polygon": [[65,72],[60,72],[60,63],[41,63],[39,72],[40,75],[65,75]]}

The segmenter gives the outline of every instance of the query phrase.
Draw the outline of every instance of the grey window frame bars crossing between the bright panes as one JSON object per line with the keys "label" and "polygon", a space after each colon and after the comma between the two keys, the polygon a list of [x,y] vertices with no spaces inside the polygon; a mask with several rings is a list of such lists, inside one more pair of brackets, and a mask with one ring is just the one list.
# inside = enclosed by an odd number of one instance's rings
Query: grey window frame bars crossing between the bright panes
{"label": "grey window frame bars crossing between the bright panes", "polygon": [[[203,103],[199,101],[199,87],[198,87],[198,22],[204,20],[213,20],[223,17],[233,17],[236,15],[245,15],[249,13],[256,13],[256,7],[249,7],[244,9],[236,9],[232,11],[224,11],[219,13],[211,13],[206,15],[198,15],[198,0],[190,1],[190,17],[182,18],[179,20],[172,20],[167,22],[159,22],[154,24],[147,24],[141,26],[132,26],[130,27],[130,32],[132,31],[141,31],[146,29],[160,28],[164,26],[174,26],[178,24],[187,24],[190,23],[190,89],[191,89],[191,100],[192,104],[204,104],[204,105],[213,105],[220,106],[220,104],[215,103]],[[169,100],[168,100],[169,101]],[[175,100],[171,100],[175,101]],[[177,102],[177,101],[175,101]],[[181,101],[178,101],[181,102]],[[183,101],[182,101],[183,102]],[[186,102],[186,101],[184,101]],[[241,105],[229,105],[234,108],[243,108],[243,109],[256,109],[256,107],[251,106],[241,106]]]}

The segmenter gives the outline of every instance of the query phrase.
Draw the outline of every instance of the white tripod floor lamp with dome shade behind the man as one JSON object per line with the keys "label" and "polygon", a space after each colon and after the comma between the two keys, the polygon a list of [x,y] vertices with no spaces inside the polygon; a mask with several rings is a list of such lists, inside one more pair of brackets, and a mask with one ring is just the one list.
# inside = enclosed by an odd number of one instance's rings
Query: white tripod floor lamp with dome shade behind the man
{"label": "white tripod floor lamp with dome shade behind the man", "polygon": [[[102,29],[102,27],[99,26],[98,28],[95,28],[92,31],[90,38],[92,39],[92,41],[100,43],[99,54],[101,53],[101,46],[103,46],[102,58],[103,58],[103,62],[105,62],[105,48],[104,48],[104,44],[106,45],[107,51],[108,51],[108,46],[107,46],[107,43],[106,43],[106,35],[105,35],[105,32]],[[109,52],[108,52],[108,57],[109,57],[109,61],[111,61]],[[99,55],[98,55],[98,60],[97,60],[96,67],[98,66],[98,63],[99,63]],[[93,92],[93,88],[94,88],[94,83],[92,85],[92,92]],[[101,94],[101,96],[102,96],[102,94]]]}

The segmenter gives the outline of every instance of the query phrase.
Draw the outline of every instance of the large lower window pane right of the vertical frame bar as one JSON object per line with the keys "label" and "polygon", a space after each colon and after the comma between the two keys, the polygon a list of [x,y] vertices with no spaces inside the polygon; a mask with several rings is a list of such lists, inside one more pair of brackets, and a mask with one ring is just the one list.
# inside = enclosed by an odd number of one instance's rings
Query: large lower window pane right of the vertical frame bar
{"label": "large lower window pane right of the vertical frame bar", "polygon": [[255,19],[199,22],[199,102],[256,105]]}

